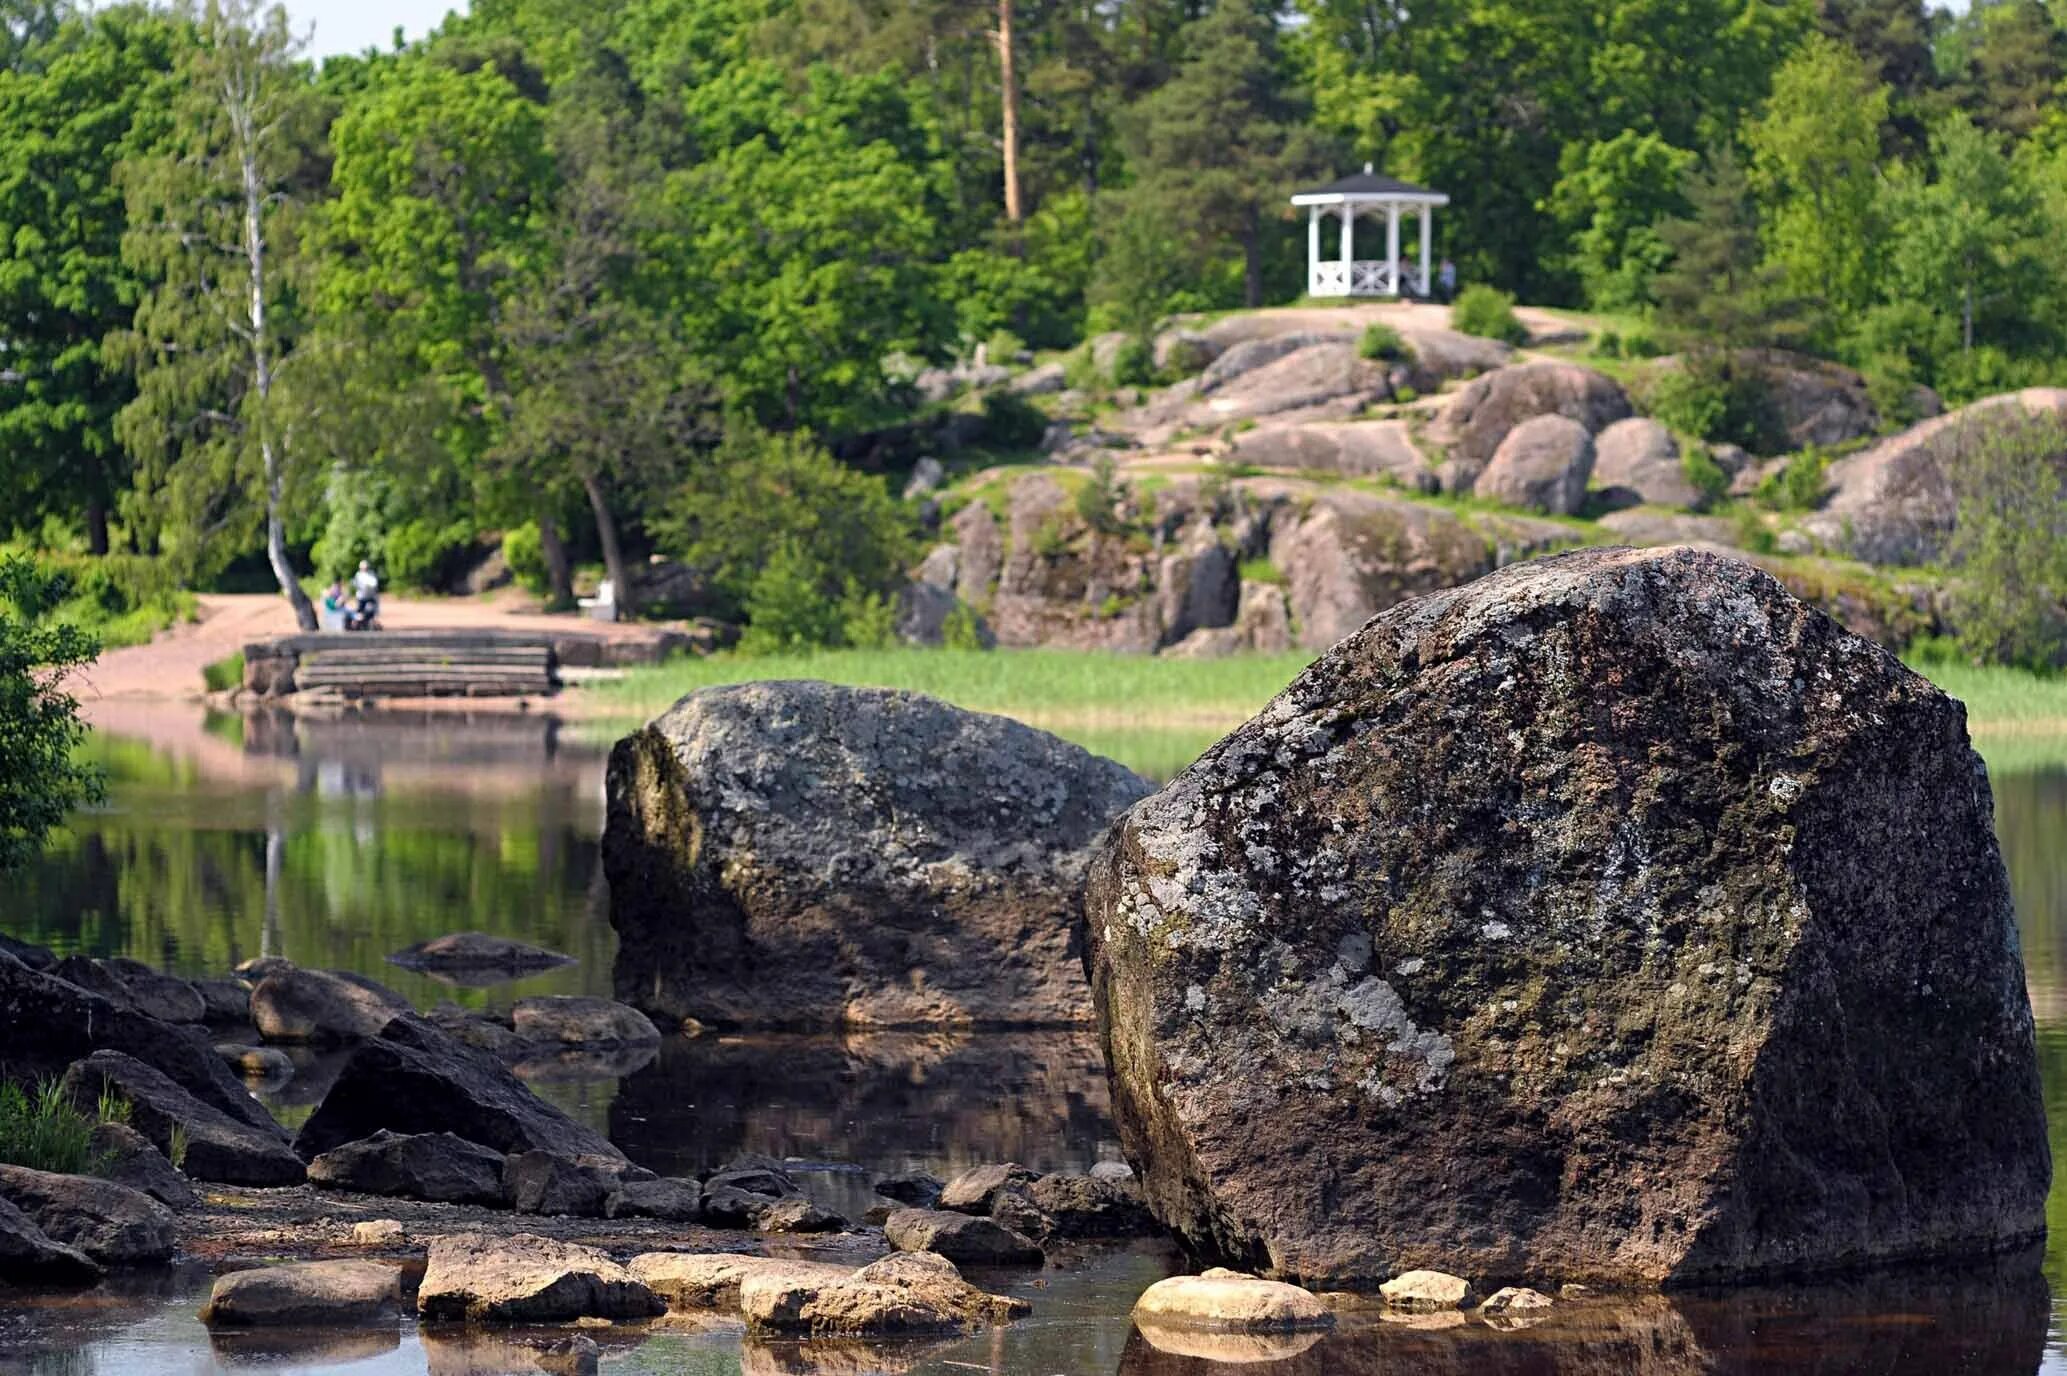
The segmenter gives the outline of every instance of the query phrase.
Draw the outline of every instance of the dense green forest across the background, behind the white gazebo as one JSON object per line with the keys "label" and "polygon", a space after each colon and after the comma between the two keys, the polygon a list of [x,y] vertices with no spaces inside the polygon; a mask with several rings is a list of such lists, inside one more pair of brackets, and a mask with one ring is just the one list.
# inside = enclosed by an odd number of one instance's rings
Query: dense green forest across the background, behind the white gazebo
{"label": "dense green forest across the background, behind the white gazebo", "polygon": [[[1771,347],[1887,421],[2067,376],[2042,0],[1017,0],[1011,91],[996,21],[480,0],[318,68],[258,0],[39,0],[0,43],[0,539],[304,616],[308,572],[451,585],[496,533],[556,601],[630,593],[709,554],[740,452],[909,463],[926,366],[1110,329],[1073,384],[1143,384],[1172,312],[1296,300],[1288,192],[1362,161],[1449,192],[1461,326],[1623,312],[1602,351],[1676,351],[1652,403],[1705,440],[1771,452]],[[779,562],[699,572],[794,603],[781,640],[872,634],[881,558]]]}

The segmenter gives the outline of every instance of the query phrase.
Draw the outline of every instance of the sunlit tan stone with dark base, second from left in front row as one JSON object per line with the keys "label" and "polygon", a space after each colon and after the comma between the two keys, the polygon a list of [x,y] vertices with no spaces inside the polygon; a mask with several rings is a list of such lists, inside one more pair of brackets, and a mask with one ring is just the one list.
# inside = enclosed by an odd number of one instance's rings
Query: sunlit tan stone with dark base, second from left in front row
{"label": "sunlit tan stone with dark base, second from left in front row", "polygon": [[432,1320],[562,1324],[653,1318],[668,1304],[595,1248],[531,1233],[451,1233],[430,1240],[415,1308]]}

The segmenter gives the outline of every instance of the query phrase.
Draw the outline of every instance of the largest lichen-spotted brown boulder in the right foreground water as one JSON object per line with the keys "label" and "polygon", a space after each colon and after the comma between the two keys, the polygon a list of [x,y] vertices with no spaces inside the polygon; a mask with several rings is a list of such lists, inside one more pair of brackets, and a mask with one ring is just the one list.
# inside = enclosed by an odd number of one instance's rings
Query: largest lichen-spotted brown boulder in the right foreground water
{"label": "largest lichen-spotted brown boulder in the right foreground water", "polygon": [[2044,1233],[1962,707],[1732,558],[1377,618],[1093,864],[1151,1209],[1275,1277],[1738,1281]]}

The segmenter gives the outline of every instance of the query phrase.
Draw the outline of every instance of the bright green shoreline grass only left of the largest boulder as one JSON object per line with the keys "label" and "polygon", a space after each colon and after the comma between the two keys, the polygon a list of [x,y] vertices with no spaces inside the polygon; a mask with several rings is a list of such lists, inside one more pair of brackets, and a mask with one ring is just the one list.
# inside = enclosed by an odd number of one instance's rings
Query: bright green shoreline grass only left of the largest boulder
{"label": "bright green shoreline grass only left of the largest boulder", "polygon": [[909,688],[971,711],[1017,717],[1151,779],[1166,779],[1253,717],[1308,661],[1306,653],[1160,659],[1046,649],[713,655],[630,669],[618,682],[583,692],[612,723],[628,723],[715,684],[819,678]]}

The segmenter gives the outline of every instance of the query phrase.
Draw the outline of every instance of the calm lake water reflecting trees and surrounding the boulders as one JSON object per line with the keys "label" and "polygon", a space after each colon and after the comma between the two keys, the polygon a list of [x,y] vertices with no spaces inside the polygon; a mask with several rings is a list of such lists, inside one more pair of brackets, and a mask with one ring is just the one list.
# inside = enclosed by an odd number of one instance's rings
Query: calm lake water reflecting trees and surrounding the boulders
{"label": "calm lake water reflecting trees and surrounding the boulders", "polygon": [[[420,1008],[504,1006],[527,994],[610,994],[601,882],[608,731],[548,717],[420,713],[337,721],[110,717],[95,750],[105,808],[83,814],[0,893],[0,930],[60,952],[126,955],[184,975],[254,955],[374,975]],[[1096,742],[1127,756],[1124,742]],[[1166,771],[1162,742],[1135,764]],[[2067,1128],[2067,771],[1999,773],[1997,828],[2024,928],[2055,1157]],[[455,930],[521,936],[577,957],[533,979],[459,988],[387,963]],[[304,1056],[271,1095],[287,1122],[335,1060]],[[525,1066],[531,1085],[664,1174],[757,1151],[866,1171],[951,1174],[1015,1159],[1083,1169],[1118,1157],[1089,1035],[674,1037],[616,1066]],[[858,1171],[810,1171],[858,1215]],[[1149,1341],[1127,1318],[1172,1269],[1153,1246],[1091,1250],[1040,1275],[982,1277],[1034,1300],[1027,1322],[959,1343],[746,1343],[736,1328],[604,1341],[616,1372],[994,1372],[1321,1376],[1327,1372],[1949,1372],[2067,1374],[2067,1190],[2044,1256],[1794,1291],[1649,1300],[1563,1312],[1528,1333],[1350,1318],[1279,1345]],[[393,1331],[211,1343],[194,1320],[205,1269],[105,1285],[35,1312],[0,1300],[0,1372],[535,1370],[525,1335]],[[469,1345],[471,1343],[471,1345]],[[484,1345],[486,1343],[486,1345]]]}

